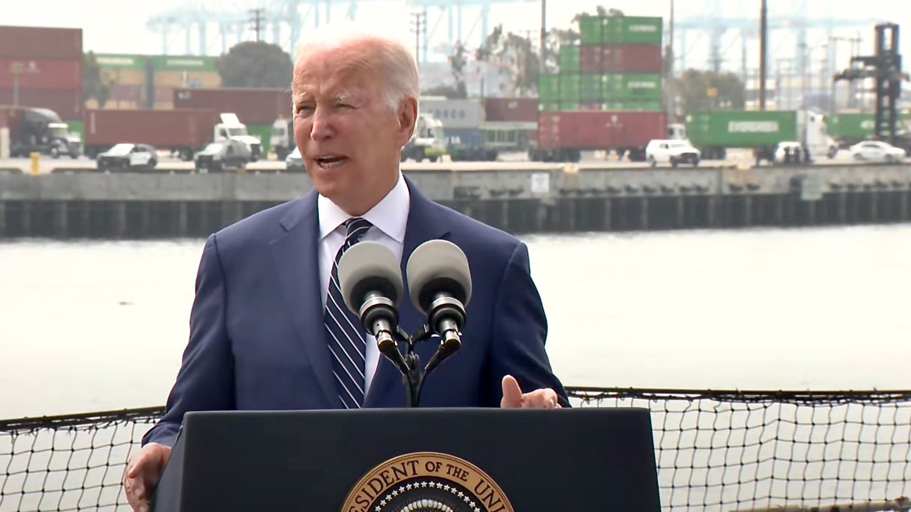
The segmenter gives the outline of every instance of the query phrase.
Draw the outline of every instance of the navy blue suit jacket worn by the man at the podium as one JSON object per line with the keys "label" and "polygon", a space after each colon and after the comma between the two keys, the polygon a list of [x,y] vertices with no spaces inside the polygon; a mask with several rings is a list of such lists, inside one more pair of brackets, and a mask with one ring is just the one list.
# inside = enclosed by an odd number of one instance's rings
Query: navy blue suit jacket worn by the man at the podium
{"label": "navy blue suit jacket worn by the man at the podium", "polygon": [[[553,388],[568,406],[544,350],[547,319],[525,244],[428,200],[406,182],[411,205],[403,278],[408,256],[433,239],[465,251],[472,278],[462,348],[428,377],[421,406],[498,407],[506,374],[525,392]],[[196,279],[189,343],[167,411],[143,445],[172,445],[187,411],[343,407],[322,323],[316,194],[210,235]],[[407,333],[425,322],[408,296],[399,316]],[[418,343],[422,365],[435,352],[434,340]],[[405,405],[402,376],[381,355],[363,406]]]}

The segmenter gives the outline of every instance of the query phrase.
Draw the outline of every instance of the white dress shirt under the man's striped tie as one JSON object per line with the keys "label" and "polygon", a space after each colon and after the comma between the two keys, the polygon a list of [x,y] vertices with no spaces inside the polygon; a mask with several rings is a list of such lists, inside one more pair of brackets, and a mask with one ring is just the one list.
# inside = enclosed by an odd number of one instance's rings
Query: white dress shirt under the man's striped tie
{"label": "white dress shirt under the man's striped tie", "polygon": [[[410,204],[411,194],[408,193],[408,185],[399,171],[398,181],[393,189],[373,209],[363,214],[362,218],[369,220],[373,226],[363,234],[361,241],[378,241],[393,251],[395,260],[402,261],[404,227],[408,221]],[[347,234],[343,222],[351,219],[351,215],[322,195],[317,197],[316,210],[320,219],[320,283],[324,310],[326,296],[329,294],[329,274],[333,269],[335,254],[342,247]],[[363,394],[366,396],[374,379],[376,364],[380,360],[380,351],[376,348],[376,339],[373,335],[364,333],[364,336],[367,346],[364,353],[366,367],[363,372]]]}

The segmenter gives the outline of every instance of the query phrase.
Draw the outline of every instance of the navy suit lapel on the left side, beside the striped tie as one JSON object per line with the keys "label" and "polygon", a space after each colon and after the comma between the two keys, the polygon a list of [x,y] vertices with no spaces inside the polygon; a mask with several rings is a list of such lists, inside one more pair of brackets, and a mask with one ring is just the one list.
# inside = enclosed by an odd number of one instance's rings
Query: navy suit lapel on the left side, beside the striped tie
{"label": "navy suit lapel on the left side, beside the striped tie", "polygon": [[325,329],[322,329],[320,290],[319,220],[313,189],[281,218],[285,232],[271,241],[275,271],[290,309],[291,321],[312,362],[322,394],[332,407],[342,407],[333,378],[333,362]]}

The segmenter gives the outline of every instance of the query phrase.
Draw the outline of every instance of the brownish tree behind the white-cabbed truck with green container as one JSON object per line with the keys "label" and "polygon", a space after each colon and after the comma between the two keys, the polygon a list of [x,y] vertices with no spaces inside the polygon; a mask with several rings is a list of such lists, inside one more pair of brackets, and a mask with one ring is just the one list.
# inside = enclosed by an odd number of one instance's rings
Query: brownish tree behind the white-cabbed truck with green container
{"label": "brownish tree behind the white-cabbed truck with green container", "polygon": [[697,110],[744,108],[746,91],[733,73],[687,69],[680,77],[668,80],[674,97],[679,98],[683,115]]}

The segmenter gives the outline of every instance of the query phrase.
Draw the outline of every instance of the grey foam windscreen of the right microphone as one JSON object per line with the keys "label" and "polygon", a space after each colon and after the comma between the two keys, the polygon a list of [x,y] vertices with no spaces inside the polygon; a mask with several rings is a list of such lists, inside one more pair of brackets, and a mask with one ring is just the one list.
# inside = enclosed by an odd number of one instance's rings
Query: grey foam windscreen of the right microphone
{"label": "grey foam windscreen of the right microphone", "polygon": [[471,298],[471,271],[468,259],[455,243],[425,241],[417,246],[405,267],[408,292],[418,311],[426,312],[439,292],[451,294],[463,306]]}

